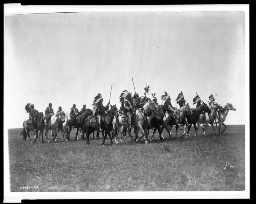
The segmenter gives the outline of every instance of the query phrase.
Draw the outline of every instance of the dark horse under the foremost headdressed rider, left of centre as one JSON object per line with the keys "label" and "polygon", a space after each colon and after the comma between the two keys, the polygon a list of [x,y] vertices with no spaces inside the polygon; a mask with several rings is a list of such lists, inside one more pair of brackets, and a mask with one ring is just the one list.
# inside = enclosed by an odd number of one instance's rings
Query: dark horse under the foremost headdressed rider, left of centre
{"label": "dark horse under the foremost headdressed rider, left of centre", "polygon": [[[113,130],[113,124],[112,121],[114,119],[114,116],[117,115],[117,107],[116,105],[110,105],[110,110],[107,113],[103,114],[102,117],[102,129],[104,130],[104,132],[102,132],[102,134],[104,135],[103,141],[102,141],[102,146],[104,146],[105,144],[105,140],[106,140],[106,136],[108,134],[109,138],[110,138],[110,144],[113,145],[112,142],[112,137],[110,132]],[[86,144],[89,145],[90,141],[89,141],[89,135],[94,131],[97,130],[97,122],[96,122],[96,117],[94,115],[90,115],[88,116],[85,120],[84,120],[84,124],[83,124],[83,134],[86,132],[86,137],[87,137],[87,141]]]}

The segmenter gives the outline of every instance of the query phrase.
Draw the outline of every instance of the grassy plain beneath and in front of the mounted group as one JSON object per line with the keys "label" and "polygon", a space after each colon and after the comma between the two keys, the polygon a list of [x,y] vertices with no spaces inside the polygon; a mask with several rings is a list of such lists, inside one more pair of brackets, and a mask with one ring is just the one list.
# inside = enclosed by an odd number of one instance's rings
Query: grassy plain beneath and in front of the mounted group
{"label": "grassy plain beneath and in front of the mounted group", "polygon": [[[227,126],[207,137],[144,139],[101,146],[102,138],[23,144],[20,129],[8,130],[11,192],[72,191],[244,191],[245,126]],[[152,133],[152,131],[150,131]],[[191,135],[193,127],[191,128]],[[175,130],[172,130],[175,135]],[[132,134],[133,135],[133,134]],[[48,134],[48,137],[50,134]],[[101,134],[100,134],[101,137]],[[33,136],[31,137],[31,139]],[[50,137],[49,137],[50,138]],[[80,136],[79,136],[80,138]],[[118,141],[120,137],[118,137]],[[46,141],[46,140],[45,140]],[[233,165],[226,171],[225,161]],[[22,189],[20,187],[38,187]]]}

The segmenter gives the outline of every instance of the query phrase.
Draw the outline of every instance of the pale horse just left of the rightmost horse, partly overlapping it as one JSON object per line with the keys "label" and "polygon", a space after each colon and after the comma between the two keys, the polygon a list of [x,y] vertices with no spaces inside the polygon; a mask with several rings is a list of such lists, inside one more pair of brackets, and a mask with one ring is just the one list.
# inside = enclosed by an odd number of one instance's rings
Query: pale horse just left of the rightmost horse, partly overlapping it
{"label": "pale horse just left of the rightmost horse, partly overlapping it", "polygon": [[208,127],[208,124],[210,123],[210,125],[212,126],[212,129],[214,130],[214,134],[216,134],[216,131],[215,131],[215,128],[214,128],[214,116],[215,116],[215,113],[216,113],[216,110],[217,109],[222,109],[222,106],[219,105],[218,103],[211,103],[210,104],[210,109],[211,109],[211,114],[208,114],[208,113],[203,113],[203,117],[199,117],[199,120],[198,120],[198,126],[197,126],[197,130],[198,128],[200,127],[201,124],[203,124],[203,135],[206,136],[206,130],[207,130],[207,127]]}

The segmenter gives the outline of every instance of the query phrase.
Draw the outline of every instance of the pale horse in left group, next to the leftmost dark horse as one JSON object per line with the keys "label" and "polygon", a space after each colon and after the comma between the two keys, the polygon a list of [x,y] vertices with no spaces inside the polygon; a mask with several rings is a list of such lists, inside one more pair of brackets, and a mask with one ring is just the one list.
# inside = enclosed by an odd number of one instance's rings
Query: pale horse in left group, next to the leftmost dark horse
{"label": "pale horse in left group, next to the leftmost dark horse", "polygon": [[[59,113],[56,113],[55,115],[52,115],[52,117],[50,118],[50,121],[49,121],[50,126],[45,127],[45,137],[47,139],[47,142],[49,142],[49,139],[48,139],[48,136],[47,136],[49,130],[52,130],[53,141],[57,137],[57,128],[59,126],[59,122],[61,122],[61,126],[63,126],[62,123],[65,122],[65,114],[62,113],[62,112],[59,112]],[[61,128],[63,128],[63,127],[61,127]]]}

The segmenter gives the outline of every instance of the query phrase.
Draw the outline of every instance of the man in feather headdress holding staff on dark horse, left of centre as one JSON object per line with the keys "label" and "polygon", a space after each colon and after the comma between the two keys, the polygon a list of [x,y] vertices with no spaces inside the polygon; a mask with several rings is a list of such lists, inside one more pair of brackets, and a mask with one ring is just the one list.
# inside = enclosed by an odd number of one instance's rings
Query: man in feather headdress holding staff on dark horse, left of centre
{"label": "man in feather headdress holding staff on dark horse, left of centre", "polygon": [[92,105],[94,106],[93,107],[94,116],[96,118],[98,118],[98,131],[103,131],[102,117],[103,117],[104,112],[109,109],[109,104],[110,104],[110,102],[108,102],[108,104],[106,106],[103,106],[102,102],[103,102],[102,95],[100,93],[98,93],[94,97],[93,103],[92,103]]}

